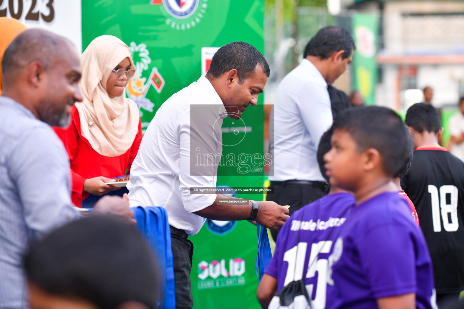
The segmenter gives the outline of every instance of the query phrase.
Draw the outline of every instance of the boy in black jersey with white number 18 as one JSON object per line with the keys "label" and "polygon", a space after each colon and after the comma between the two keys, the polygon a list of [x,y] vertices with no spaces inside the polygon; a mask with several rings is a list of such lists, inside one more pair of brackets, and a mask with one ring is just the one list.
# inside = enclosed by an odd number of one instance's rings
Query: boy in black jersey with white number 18
{"label": "boy in black jersey with white number 18", "polygon": [[464,290],[464,163],[438,144],[443,128],[435,107],[414,104],[405,122],[415,152],[401,187],[419,214],[440,306]]}

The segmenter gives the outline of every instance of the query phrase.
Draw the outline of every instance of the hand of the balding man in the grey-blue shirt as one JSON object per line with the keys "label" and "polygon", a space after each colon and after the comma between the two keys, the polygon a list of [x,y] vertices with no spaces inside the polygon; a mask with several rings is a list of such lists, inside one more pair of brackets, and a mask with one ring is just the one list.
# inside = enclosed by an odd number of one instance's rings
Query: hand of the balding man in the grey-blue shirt
{"label": "hand of the balding man in the grey-blue shirt", "polygon": [[130,224],[135,225],[134,212],[129,207],[129,197],[126,193],[120,196],[103,196],[95,204],[91,214],[111,214],[122,217]]}

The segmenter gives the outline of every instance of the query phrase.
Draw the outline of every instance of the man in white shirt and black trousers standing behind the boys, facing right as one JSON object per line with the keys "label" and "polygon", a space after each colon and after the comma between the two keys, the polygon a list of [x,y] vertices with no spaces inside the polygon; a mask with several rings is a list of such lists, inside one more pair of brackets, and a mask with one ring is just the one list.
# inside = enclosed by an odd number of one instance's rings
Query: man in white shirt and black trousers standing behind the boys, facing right
{"label": "man in white shirt and black trousers standing behind the boys, facing right", "polygon": [[[353,51],[348,30],[322,28],[306,45],[301,63],[277,87],[270,130],[269,179],[274,194],[267,199],[290,205],[290,215],[325,195],[328,184],[319,171],[316,151],[322,134],[332,125],[327,86],[345,71]],[[278,230],[271,233],[276,240]]]}

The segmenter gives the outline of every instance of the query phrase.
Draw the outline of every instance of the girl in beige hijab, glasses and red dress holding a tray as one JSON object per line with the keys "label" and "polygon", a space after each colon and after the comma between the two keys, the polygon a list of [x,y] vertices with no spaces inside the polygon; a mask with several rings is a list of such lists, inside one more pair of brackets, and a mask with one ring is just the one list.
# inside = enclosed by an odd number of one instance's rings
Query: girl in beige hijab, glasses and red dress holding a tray
{"label": "girl in beige hijab, glasses and red dress holding a tray", "polygon": [[80,207],[85,200],[89,207],[119,189],[105,184],[114,181],[110,178],[129,174],[142,126],[137,105],[125,93],[135,73],[126,44],[110,35],[95,38],[81,56],[81,67],[84,100],[72,107],[71,125],[55,132],[69,154],[72,201]]}

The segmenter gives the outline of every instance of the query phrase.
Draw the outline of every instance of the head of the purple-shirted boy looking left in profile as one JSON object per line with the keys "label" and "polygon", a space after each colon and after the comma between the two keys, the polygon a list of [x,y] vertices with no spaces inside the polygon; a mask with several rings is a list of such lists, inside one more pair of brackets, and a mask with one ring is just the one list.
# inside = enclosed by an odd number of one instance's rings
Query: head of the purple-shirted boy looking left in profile
{"label": "head of the purple-shirted boy looking left in profile", "polygon": [[390,182],[410,152],[406,126],[386,107],[347,109],[332,129],[332,148],[324,156],[330,184],[355,194]]}

